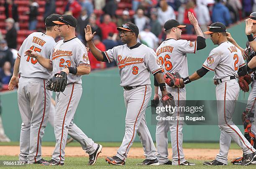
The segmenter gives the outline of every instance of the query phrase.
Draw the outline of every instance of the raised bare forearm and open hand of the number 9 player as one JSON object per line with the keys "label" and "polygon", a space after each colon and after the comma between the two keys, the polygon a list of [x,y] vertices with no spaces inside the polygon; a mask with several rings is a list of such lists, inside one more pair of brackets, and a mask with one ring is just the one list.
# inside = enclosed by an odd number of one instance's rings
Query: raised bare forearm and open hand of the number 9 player
{"label": "raised bare forearm and open hand of the number 9 player", "polygon": [[92,42],[92,38],[94,37],[96,32],[92,34],[92,28],[90,25],[87,25],[86,28],[84,28],[84,32],[85,32],[85,40],[87,41],[90,47],[92,55],[97,59],[97,61],[104,61],[102,51],[96,48],[96,46]]}

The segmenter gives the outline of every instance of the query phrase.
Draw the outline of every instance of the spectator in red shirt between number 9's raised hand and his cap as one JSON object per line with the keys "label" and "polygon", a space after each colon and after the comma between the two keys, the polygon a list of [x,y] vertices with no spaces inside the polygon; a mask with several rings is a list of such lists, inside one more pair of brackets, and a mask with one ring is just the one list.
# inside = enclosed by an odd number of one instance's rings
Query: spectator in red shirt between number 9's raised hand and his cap
{"label": "spectator in red shirt between number 9's raised hand and his cap", "polygon": [[106,39],[109,33],[113,33],[114,37],[118,34],[118,30],[116,29],[117,26],[111,21],[110,15],[108,14],[104,15],[103,23],[99,23],[99,26],[102,33],[102,40]]}

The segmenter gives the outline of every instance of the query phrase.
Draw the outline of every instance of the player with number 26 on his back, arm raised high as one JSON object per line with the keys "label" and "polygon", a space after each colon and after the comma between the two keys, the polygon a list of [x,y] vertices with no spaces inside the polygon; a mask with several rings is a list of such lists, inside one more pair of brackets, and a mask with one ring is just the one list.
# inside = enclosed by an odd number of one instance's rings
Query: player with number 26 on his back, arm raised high
{"label": "player with number 26 on his back, arm raised high", "polygon": [[[189,20],[195,27],[195,32],[197,33],[197,40],[187,41],[182,40],[181,28],[184,25],[180,25],[177,20],[168,20],[164,24],[164,30],[166,32],[166,40],[156,49],[156,55],[159,63],[164,68],[164,73],[175,73],[178,72],[182,77],[188,76],[188,66],[187,66],[187,53],[196,53],[197,50],[203,49],[206,46],[205,38],[200,29],[195,16],[192,13],[188,13]],[[168,50],[165,50],[168,49]],[[155,81],[155,95],[154,99],[159,100],[161,93],[158,92],[158,84]],[[166,86],[169,93],[174,94],[174,100],[177,106],[185,106],[186,100],[186,88],[172,88]],[[161,104],[161,103],[160,103]],[[162,106],[162,104],[160,105]],[[167,117],[165,112],[159,114],[161,117]],[[182,116],[181,112],[177,111],[173,116]],[[174,119],[177,119],[174,117]],[[156,126],[156,148],[157,148],[157,159],[159,164],[172,164],[172,165],[195,165],[194,163],[189,163],[184,158],[184,153],[182,149],[182,128],[183,122],[179,119],[177,120],[160,120]],[[172,161],[168,159],[168,137],[167,132],[171,132],[172,141]]]}

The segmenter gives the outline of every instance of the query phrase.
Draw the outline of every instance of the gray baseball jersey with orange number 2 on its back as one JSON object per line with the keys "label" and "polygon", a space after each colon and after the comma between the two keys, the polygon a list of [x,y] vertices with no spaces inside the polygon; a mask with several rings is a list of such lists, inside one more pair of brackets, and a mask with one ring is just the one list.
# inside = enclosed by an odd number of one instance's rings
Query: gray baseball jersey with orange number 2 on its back
{"label": "gray baseball jersey with orange number 2 on its back", "polygon": [[227,41],[211,50],[202,67],[214,71],[214,79],[221,79],[228,76],[238,77],[238,69],[245,65],[241,50]]}

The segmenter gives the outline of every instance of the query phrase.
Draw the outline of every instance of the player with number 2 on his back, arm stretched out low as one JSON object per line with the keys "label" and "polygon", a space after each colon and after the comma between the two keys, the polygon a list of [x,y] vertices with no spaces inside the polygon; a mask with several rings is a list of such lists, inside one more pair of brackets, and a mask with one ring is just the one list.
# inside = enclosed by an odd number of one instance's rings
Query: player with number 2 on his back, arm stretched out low
{"label": "player with number 2 on his back, arm stretched out low", "polygon": [[212,23],[205,34],[210,34],[212,42],[218,47],[211,50],[202,68],[191,76],[175,79],[175,82],[179,83],[180,80],[179,85],[184,85],[201,78],[208,71],[215,72],[213,79],[217,84],[216,100],[220,127],[220,152],[215,160],[204,162],[204,165],[227,165],[231,138],[245,154],[241,165],[248,165],[256,156],[256,150],[232,121],[240,90],[236,78],[246,75],[246,63],[243,60],[241,50],[228,42],[225,25],[219,22]]}

